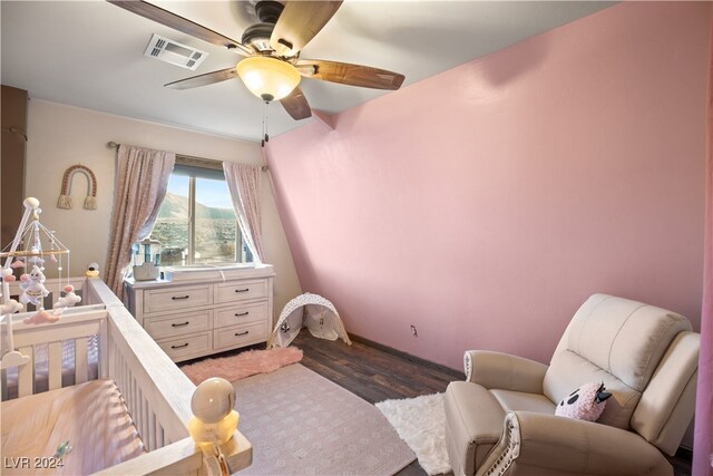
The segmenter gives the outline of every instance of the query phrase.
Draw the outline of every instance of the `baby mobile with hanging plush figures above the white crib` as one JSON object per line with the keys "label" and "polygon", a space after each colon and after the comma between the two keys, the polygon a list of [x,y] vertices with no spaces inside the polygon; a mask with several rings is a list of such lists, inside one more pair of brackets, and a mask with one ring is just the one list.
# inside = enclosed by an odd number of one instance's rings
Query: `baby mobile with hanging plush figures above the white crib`
{"label": "baby mobile with hanging plush figures above the white crib", "polygon": [[[40,324],[57,322],[62,312],[79,301],[81,298],[75,293],[69,284],[69,249],[65,246],[55,233],[40,223],[40,202],[35,197],[28,197],[23,202],[25,213],[9,245],[9,250],[0,252],[0,260],[4,260],[1,268],[2,274],[2,304],[0,304],[0,319],[6,321],[9,352],[2,356],[2,368],[17,367],[29,361],[29,357],[14,350],[12,338],[12,314],[25,309],[27,304],[35,307],[36,312],[22,320],[26,324]],[[65,268],[66,261],[66,268]],[[49,290],[45,286],[45,265],[57,268],[58,292],[57,302],[52,310],[45,309],[45,298]],[[16,281],[14,269],[23,269],[20,275],[19,301],[10,299],[10,283]],[[62,286],[62,272],[66,271],[67,284]],[[64,295],[62,295],[64,292]]]}

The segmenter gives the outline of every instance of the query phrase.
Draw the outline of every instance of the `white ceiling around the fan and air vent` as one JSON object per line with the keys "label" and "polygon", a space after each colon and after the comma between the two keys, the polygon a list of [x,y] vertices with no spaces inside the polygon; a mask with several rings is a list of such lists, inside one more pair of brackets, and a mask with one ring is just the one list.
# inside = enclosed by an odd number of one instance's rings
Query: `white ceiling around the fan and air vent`
{"label": "white ceiling around the fan and air vent", "polygon": [[[240,40],[256,22],[253,1],[153,1]],[[406,75],[402,87],[590,14],[597,1],[346,0],[302,58],[363,64]],[[2,84],[30,98],[258,140],[263,105],[240,79],[189,90],[177,79],[234,66],[242,57],[105,1],[8,1],[2,18]],[[158,33],[209,56],[196,71],[146,58]],[[305,79],[313,109],[339,113],[385,91]],[[271,136],[306,124],[267,107]]]}

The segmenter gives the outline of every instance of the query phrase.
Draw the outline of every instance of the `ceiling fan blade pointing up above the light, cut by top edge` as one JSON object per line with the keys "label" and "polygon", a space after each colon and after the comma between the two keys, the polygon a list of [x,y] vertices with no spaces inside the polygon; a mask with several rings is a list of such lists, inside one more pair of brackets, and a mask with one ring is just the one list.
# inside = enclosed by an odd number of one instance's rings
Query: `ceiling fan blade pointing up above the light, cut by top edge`
{"label": "ceiling fan blade pointing up above the light, cut by top edge", "polygon": [[280,56],[294,56],[336,13],[342,0],[302,1],[285,3],[270,37],[270,46]]}

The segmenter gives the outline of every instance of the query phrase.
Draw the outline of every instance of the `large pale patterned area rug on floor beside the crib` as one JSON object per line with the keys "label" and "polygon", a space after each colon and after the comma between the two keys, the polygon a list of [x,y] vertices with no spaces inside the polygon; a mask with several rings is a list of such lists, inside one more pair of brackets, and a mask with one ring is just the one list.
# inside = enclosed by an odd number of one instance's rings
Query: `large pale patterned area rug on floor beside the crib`
{"label": "large pale patterned area rug on floor beside the crib", "polygon": [[241,475],[393,475],[416,459],[373,405],[300,363],[233,385],[253,445]]}

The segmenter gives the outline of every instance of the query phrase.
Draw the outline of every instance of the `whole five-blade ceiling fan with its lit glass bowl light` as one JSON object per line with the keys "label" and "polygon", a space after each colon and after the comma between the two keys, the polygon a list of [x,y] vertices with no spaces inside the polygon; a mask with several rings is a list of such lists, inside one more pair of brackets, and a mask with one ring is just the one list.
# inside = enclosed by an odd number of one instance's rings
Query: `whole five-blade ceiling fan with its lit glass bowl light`
{"label": "whole five-blade ceiling fan with its lit glass bowl light", "polygon": [[336,1],[261,0],[255,13],[261,22],[250,26],[241,41],[227,38],[194,21],[146,1],[107,0],[133,13],[195,38],[224,46],[244,56],[237,66],[168,82],[166,87],[188,89],[240,76],[245,86],[265,103],[280,100],[294,119],[312,116],[299,87],[302,77],[373,89],[395,90],[403,75],[346,62],[300,59],[300,51],[314,38],[342,4]]}

